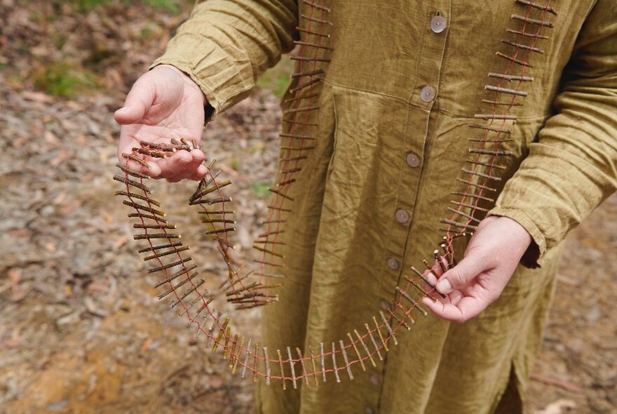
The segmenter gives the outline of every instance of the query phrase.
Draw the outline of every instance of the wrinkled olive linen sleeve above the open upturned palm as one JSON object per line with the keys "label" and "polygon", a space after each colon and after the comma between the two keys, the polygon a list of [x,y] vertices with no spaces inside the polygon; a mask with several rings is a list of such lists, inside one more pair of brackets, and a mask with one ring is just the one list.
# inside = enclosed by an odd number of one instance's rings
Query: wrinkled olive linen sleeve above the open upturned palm
{"label": "wrinkled olive linen sleeve above the open upturned palm", "polygon": [[259,75],[292,49],[297,14],[293,0],[203,1],[151,67],[173,65],[191,76],[213,119],[246,98]]}

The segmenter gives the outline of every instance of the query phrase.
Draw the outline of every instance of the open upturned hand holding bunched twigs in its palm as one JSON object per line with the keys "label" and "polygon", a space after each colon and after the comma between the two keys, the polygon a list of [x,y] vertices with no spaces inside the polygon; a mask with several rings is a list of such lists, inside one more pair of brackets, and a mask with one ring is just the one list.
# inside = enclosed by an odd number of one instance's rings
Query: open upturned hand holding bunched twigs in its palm
{"label": "open upturned hand holding bunched twigs in its palm", "polygon": [[[122,153],[130,154],[140,140],[169,144],[171,138],[199,142],[203,131],[205,97],[189,76],[176,67],[160,65],[137,79],[126,102],[114,114],[122,125],[118,159],[124,165]],[[184,178],[201,180],[207,173],[205,156],[200,149],[180,150],[165,159],[146,157],[149,169],[135,161],[128,168],[154,178],[177,182]]]}

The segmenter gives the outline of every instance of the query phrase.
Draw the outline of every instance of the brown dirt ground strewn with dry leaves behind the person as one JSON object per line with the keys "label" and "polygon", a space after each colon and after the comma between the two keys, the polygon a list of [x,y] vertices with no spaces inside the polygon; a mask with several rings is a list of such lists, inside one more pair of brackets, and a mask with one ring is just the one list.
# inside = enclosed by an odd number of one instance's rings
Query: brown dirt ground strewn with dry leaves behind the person
{"label": "brown dirt ground strewn with dry leaves behind the person", "polygon": [[[0,413],[252,412],[252,382],[231,378],[156,300],[128,208],[111,196],[112,114],[191,2],[19,3],[0,0]],[[204,136],[236,185],[240,256],[265,214],[279,122],[278,98],[262,90]],[[193,185],[154,189],[191,246],[205,246],[182,202]],[[617,196],[565,251],[528,412],[615,413]],[[194,258],[222,268],[207,248]],[[258,335],[257,321],[252,310],[236,326]]]}

